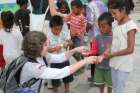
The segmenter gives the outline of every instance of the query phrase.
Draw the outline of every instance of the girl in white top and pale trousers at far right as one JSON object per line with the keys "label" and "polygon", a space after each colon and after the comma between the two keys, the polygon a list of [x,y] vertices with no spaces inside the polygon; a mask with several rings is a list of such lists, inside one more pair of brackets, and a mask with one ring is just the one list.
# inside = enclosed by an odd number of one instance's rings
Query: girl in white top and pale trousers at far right
{"label": "girl in white top and pale trousers at far right", "polygon": [[109,3],[109,10],[116,21],[112,26],[111,52],[106,51],[106,57],[111,58],[110,67],[116,93],[125,93],[126,80],[133,70],[135,34],[138,30],[134,21],[129,17],[133,8],[132,0],[112,0]]}

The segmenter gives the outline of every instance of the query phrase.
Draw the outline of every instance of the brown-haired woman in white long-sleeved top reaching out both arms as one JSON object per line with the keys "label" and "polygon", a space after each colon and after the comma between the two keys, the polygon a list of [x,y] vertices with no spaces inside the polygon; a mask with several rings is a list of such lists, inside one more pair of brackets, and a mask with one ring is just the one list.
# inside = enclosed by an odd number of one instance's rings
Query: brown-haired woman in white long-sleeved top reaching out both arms
{"label": "brown-haired woman in white long-sleeved top reaching out both arms", "polygon": [[[57,68],[49,68],[46,67],[45,63],[42,60],[42,56],[46,57],[48,62],[52,63],[62,63],[65,60],[68,60],[69,57],[73,55],[75,52],[82,52],[85,51],[86,47],[78,47],[73,50],[67,51],[65,53],[60,54],[49,54],[48,53],[48,40],[46,36],[37,31],[29,32],[22,44],[22,49],[24,51],[24,55],[30,59],[36,60],[37,62],[28,61],[25,63],[25,65],[22,68],[21,75],[20,75],[20,83],[23,84],[24,82],[30,80],[31,78],[37,78],[37,79],[60,79],[64,78],[81,67],[83,67],[86,64],[93,63],[93,61],[96,60],[96,57],[88,57],[84,60],[81,60],[79,62],[76,62],[73,65],[66,66],[61,69]],[[39,80],[40,81],[40,80]],[[38,86],[40,82],[36,82],[33,86],[31,86],[32,89],[38,90]],[[45,91],[44,81],[41,84],[41,90],[40,93],[47,93]]]}

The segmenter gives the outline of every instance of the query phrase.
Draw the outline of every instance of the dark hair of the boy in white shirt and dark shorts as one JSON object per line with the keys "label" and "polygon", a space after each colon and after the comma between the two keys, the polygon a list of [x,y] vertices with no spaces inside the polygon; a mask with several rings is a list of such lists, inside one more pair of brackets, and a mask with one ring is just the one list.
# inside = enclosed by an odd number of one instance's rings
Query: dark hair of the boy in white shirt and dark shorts
{"label": "dark hair of the boy in white shirt and dark shorts", "polygon": [[63,19],[61,16],[59,15],[52,16],[49,23],[50,28],[55,27],[55,26],[62,26],[62,25],[63,25]]}

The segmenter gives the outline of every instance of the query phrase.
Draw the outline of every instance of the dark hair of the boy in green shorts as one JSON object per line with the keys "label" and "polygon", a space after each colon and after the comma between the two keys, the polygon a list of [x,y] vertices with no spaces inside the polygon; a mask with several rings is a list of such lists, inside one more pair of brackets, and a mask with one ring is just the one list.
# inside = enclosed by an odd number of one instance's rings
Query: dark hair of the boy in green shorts
{"label": "dark hair of the boy in green shorts", "polygon": [[100,15],[100,17],[98,18],[98,22],[103,20],[106,20],[109,26],[112,26],[112,22],[114,21],[114,18],[109,12],[105,12],[102,15]]}

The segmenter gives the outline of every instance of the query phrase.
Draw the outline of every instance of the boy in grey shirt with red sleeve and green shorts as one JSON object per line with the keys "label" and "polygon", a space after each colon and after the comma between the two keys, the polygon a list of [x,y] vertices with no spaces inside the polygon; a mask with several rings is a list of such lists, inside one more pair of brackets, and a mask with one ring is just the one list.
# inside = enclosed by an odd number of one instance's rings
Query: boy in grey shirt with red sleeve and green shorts
{"label": "boy in grey shirt with red sleeve and green shorts", "polygon": [[[98,19],[98,25],[101,31],[91,42],[90,52],[86,55],[92,56],[97,52],[98,60],[95,65],[94,81],[100,87],[100,93],[104,93],[104,87],[107,85],[107,93],[112,93],[111,68],[109,67],[109,59],[104,59],[104,53],[111,46],[112,42],[112,22],[111,14],[105,12]],[[96,45],[95,45],[96,44]]]}

